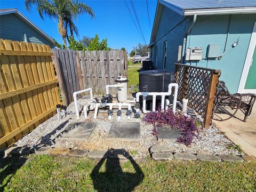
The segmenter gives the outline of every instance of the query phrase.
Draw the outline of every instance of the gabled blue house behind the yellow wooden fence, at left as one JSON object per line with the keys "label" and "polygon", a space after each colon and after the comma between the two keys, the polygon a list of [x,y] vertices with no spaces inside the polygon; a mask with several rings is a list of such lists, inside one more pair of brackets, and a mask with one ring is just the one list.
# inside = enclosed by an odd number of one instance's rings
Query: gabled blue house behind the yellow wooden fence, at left
{"label": "gabled blue house behind the yellow wooden fence, at left", "polygon": [[54,47],[52,38],[17,9],[0,9],[0,38]]}

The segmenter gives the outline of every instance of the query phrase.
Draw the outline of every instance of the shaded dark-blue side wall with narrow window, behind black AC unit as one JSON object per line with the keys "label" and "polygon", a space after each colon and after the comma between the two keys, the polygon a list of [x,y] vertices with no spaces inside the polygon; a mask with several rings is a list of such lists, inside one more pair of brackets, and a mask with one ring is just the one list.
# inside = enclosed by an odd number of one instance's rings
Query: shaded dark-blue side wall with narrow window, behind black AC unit
{"label": "shaded dark-blue side wall with narrow window, behind black AC unit", "polygon": [[[184,20],[185,19],[185,20]],[[182,23],[180,23],[184,20]],[[180,25],[178,25],[180,23]],[[177,26],[178,25],[178,26]],[[177,27],[175,27],[177,26]],[[157,46],[157,55],[154,53],[154,65],[157,62],[157,69],[163,69],[164,42],[167,41],[166,70],[175,70],[174,63],[178,58],[178,46],[183,44],[183,36],[189,26],[189,18],[163,7],[161,20],[157,29],[154,50]],[[175,27],[175,28],[174,28]],[[171,30],[174,28],[173,30]],[[170,31],[171,30],[171,31]],[[157,58],[157,61],[156,61]]]}

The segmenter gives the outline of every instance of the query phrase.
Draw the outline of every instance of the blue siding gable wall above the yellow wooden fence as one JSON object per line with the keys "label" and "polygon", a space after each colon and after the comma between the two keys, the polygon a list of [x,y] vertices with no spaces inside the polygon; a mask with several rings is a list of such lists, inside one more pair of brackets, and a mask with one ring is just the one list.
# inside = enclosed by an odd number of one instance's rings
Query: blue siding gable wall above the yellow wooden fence
{"label": "blue siding gable wall above the yellow wooden fence", "polygon": [[1,15],[0,17],[0,38],[11,39],[13,41],[24,41],[24,34],[27,36],[29,43],[39,43],[49,45],[51,48],[54,45],[44,38],[36,30],[31,28],[27,23],[22,21],[15,14]]}

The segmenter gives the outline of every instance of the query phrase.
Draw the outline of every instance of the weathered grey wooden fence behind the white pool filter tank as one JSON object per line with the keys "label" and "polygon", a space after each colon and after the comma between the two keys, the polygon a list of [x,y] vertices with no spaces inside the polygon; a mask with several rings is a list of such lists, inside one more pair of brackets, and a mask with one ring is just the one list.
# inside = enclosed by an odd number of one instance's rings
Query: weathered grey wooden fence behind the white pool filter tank
{"label": "weathered grey wooden fence behind the white pool filter tank", "polygon": [[[64,105],[73,101],[73,92],[92,87],[104,94],[105,86],[115,84],[119,73],[127,77],[127,55],[122,50],[68,51],[55,49],[54,62]],[[116,90],[111,89],[111,94]]]}

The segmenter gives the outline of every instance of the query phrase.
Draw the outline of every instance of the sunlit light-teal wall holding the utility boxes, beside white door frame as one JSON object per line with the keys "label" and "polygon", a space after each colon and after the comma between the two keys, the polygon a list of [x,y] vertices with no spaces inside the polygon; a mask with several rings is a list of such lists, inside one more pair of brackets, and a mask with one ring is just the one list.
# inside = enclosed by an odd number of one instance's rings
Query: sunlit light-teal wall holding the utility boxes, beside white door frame
{"label": "sunlit light-teal wall holding the utility boxes, beside white door frame", "polygon": [[[230,25],[228,23],[230,19]],[[186,47],[202,47],[203,60],[192,65],[220,69],[220,79],[226,82],[231,93],[238,90],[256,14],[207,15],[199,16],[188,35]],[[173,37],[174,38],[174,37]],[[239,39],[238,45],[231,45]],[[226,43],[227,42],[227,43]],[[226,51],[225,49],[226,43]],[[220,44],[222,59],[207,60],[209,44]],[[187,62],[189,63],[189,62]],[[207,64],[208,63],[208,64]]]}

